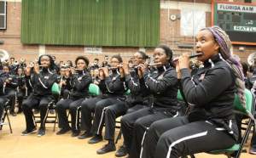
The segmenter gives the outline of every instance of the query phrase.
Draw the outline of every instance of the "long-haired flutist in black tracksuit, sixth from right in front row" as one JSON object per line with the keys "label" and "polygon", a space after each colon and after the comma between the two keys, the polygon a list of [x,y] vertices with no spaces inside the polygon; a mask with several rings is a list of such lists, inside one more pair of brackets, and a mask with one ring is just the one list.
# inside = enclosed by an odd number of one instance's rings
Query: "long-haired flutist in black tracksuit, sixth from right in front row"
{"label": "long-haired flutist in black tracksuit, sixth from right in front row", "polygon": [[[38,63],[26,67],[26,76],[32,84],[33,91],[29,97],[23,101],[23,113],[26,119],[26,130],[21,134],[26,136],[36,132],[35,122],[33,121],[32,109],[40,110],[41,124],[38,130],[38,137],[45,134],[45,120],[49,104],[53,101],[51,87],[56,82],[57,74],[53,70],[53,59],[50,55],[41,55]],[[40,69],[41,68],[41,69]]]}

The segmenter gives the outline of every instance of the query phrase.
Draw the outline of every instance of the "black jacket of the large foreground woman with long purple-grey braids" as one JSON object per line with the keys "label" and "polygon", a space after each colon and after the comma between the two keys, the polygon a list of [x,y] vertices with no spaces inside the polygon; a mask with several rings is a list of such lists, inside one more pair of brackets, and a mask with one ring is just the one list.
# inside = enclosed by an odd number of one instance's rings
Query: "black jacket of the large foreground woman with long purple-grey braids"
{"label": "black jacket of the large foreground woman with long purple-grey braids", "polygon": [[236,78],[227,62],[217,54],[205,61],[194,76],[190,76],[188,69],[182,69],[181,73],[183,93],[192,106],[189,121],[211,121],[236,136],[233,112]]}

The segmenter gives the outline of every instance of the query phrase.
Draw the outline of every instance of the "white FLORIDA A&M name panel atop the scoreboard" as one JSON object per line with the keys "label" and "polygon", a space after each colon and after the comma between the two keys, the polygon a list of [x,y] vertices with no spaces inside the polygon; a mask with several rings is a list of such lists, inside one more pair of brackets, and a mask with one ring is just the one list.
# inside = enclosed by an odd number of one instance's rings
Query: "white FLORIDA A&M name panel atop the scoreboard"
{"label": "white FLORIDA A&M name panel atop the scoreboard", "polygon": [[218,10],[256,13],[256,6],[218,3]]}

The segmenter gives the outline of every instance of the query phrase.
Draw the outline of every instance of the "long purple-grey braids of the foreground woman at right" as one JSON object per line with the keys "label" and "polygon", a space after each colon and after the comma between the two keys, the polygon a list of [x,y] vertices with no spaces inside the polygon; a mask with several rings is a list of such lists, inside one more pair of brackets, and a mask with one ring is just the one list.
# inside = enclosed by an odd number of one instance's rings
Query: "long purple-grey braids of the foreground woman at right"
{"label": "long purple-grey braids of the foreground woman at right", "polygon": [[246,99],[244,96],[244,76],[241,68],[241,63],[237,59],[235,59],[232,54],[230,54],[230,37],[226,34],[224,30],[222,30],[218,26],[207,27],[207,30],[212,32],[215,41],[218,42],[218,45],[220,47],[220,54],[230,64],[230,67],[235,73],[237,94],[239,96],[239,99],[241,100],[241,104],[245,107]]}

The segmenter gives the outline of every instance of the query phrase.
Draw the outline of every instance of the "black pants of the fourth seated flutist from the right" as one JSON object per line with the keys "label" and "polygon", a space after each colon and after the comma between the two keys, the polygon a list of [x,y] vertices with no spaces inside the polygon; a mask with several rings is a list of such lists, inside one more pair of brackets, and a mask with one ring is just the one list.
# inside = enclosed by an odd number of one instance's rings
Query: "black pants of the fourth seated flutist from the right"
{"label": "black pants of the fourth seated flutist from the right", "polygon": [[81,128],[87,131],[88,133],[92,133],[91,127],[93,113],[95,111],[96,103],[100,100],[102,100],[101,97],[84,99],[84,101],[81,104]]}

